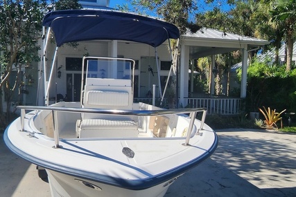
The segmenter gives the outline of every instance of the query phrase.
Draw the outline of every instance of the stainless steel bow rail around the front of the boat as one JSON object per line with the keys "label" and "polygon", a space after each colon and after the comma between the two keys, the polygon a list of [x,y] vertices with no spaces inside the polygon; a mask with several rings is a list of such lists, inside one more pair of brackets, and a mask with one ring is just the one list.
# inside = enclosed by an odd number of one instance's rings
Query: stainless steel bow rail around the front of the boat
{"label": "stainless steel bow rail around the front of the boat", "polygon": [[[108,115],[134,115],[134,116],[154,116],[154,115],[172,115],[172,114],[184,114],[190,113],[189,118],[189,128],[186,135],[185,146],[189,145],[189,140],[191,133],[193,131],[193,124],[198,112],[202,112],[202,120],[200,122],[200,129],[197,133],[203,129],[204,120],[207,115],[206,108],[195,108],[195,109],[159,109],[159,110],[116,110],[116,109],[89,109],[89,108],[74,108],[74,107],[58,107],[58,106],[17,106],[18,109],[21,109],[21,131],[24,130],[24,119],[26,116],[26,110],[35,110],[35,111],[51,111],[53,113],[53,131],[54,131],[54,140],[55,148],[59,148],[59,134],[58,127],[56,124],[57,121],[57,112],[69,112],[69,113],[100,113]],[[191,131],[191,132],[189,132]]]}

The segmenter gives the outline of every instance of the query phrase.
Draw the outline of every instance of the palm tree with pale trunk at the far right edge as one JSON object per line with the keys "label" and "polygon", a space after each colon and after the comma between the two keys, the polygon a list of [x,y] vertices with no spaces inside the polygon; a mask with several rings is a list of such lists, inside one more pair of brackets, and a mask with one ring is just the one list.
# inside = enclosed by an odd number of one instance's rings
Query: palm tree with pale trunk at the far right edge
{"label": "palm tree with pale trunk at the far right edge", "polygon": [[270,10],[272,21],[278,24],[283,24],[286,32],[287,44],[287,64],[286,71],[291,70],[292,55],[293,55],[293,34],[296,24],[296,0],[278,0],[272,4],[273,9]]}

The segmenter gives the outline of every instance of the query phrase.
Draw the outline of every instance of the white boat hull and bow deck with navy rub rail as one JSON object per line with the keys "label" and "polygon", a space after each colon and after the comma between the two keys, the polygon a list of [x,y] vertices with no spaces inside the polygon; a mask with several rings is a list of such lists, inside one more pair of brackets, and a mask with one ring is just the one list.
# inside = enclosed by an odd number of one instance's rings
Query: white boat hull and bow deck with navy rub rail
{"label": "white boat hull and bow deck with navy rub rail", "polygon": [[[52,138],[36,129],[37,122],[42,120],[39,117],[43,116],[27,113],[24,131],[18,118],[6,129],[4,140],[19,156],[46,169],[54,197],[164,196],[178,176],[208,158],[218,144],[216,133],[204,124],[204,129],[193,135],[187,146],[185,138],[139,136],[62,138],[57,149]],[[178,122],[185,126],[185,120],[186,117],[180,117]],[[60,122],[68,125],[67,121]],[[196,127],[198,124],[195,120]],[[71,131],[74,136],[75,131]],[[126,148],[134,156],[125,155]]]}

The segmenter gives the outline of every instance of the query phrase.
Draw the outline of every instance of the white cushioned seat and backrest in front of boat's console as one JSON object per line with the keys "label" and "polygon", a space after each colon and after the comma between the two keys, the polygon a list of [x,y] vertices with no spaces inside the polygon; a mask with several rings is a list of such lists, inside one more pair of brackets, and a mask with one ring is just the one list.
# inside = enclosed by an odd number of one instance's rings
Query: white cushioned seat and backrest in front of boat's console
{"label": "white cushioned seat and backrest in front of boat's console", "polygon": [[[132,109],[132,88],[114,84],[86,85],[82,107]],[[81,120],[76,123],[76,133],[78,138],[137,138],[138,124],[131,117],[123,115],[82,113]]]}

